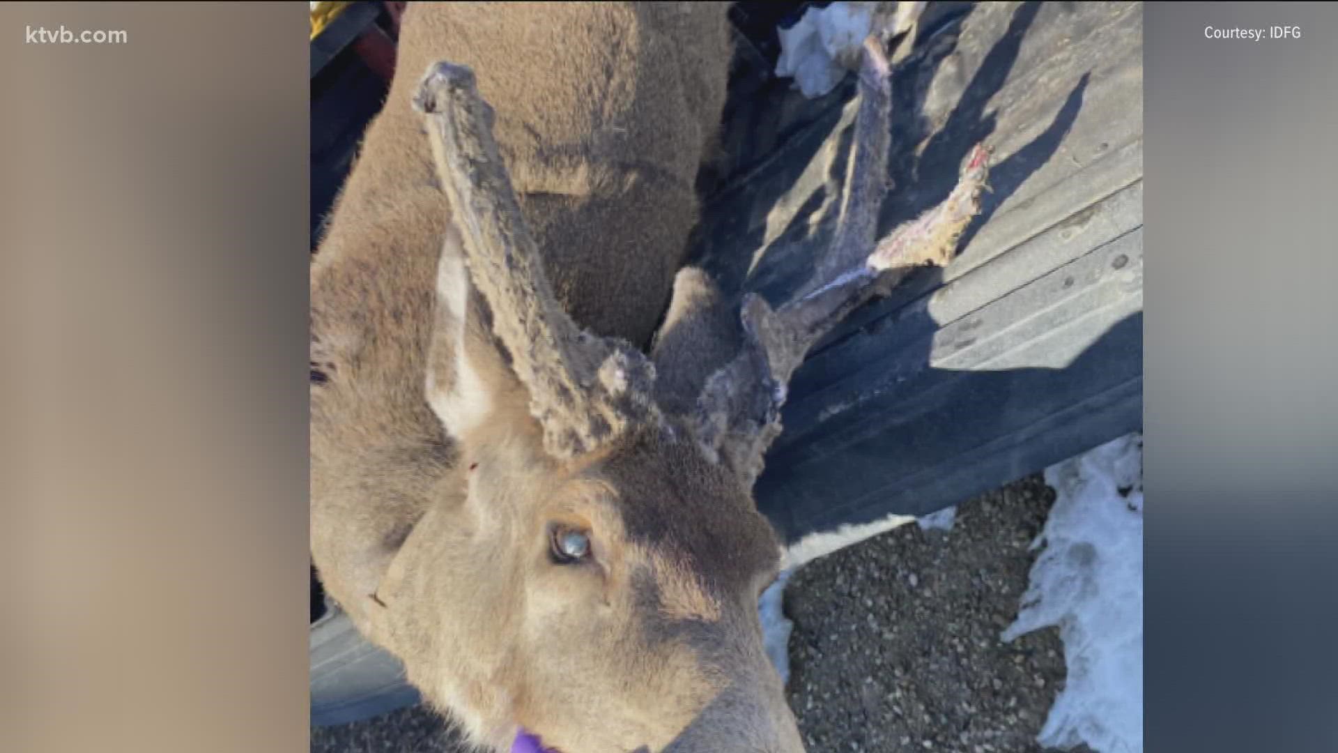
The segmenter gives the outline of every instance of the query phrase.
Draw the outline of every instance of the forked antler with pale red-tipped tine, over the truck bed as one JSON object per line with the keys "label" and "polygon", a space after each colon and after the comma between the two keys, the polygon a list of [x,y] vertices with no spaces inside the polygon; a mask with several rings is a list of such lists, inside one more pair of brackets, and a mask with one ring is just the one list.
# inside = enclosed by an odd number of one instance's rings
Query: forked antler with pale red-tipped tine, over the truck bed
{"label": "forked antler with pale red-tipped tine, over the truck bed", "polygon": [[[923,7],[910,5],[911,12]],[[942,204],[875,245],[878,209],[887,190],[891,113],[891,66],[876,33],[864,42],[859,84],[862,99],[848,193],[831,247],[816,261],[804,295],[779,310],[760,296],[744,297],[743,350],[706,381],[697,401],[698,441],[709,454],[724,456],[749,482],[761,472],[763,454],[780,433],[785,385],[808,348],[847,314],[890,289],[915,267],[946,264],[962,230],[979,210],[979,192],[987,173],[983,146],[971,150],[958,185]]]}

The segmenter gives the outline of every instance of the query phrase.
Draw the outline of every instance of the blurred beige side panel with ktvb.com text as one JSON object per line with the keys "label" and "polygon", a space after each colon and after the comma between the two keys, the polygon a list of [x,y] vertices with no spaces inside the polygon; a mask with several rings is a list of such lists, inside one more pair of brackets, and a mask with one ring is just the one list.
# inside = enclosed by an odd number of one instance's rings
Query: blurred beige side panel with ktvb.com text
{"label": "blurred beige side panel with ktvb.com text", "polygon": [[308,25],[0,4],[5,750],[308,745]]}

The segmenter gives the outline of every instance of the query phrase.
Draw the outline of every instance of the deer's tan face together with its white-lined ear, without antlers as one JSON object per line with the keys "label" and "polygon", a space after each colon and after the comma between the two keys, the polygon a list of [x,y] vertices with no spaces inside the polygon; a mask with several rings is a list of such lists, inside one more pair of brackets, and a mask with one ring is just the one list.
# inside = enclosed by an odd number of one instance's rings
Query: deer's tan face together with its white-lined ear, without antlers
{"label": "deer's tan face together with its white-lined ear, without antlers", "polygon": [[[565,443],[585,429],[537,395],[581,379],[518,367],[510,352],[531,348],[494,336],[506,326],[466,248],[448,229],[425,375],[455,476],[377,590],[411,679],[500,749],[519,726],[566,752],[803,750],[763,646],[757,598],[780,545],[749,480],[693,419],[613,390],[577,405],[605,401],[621,430]],[[634,389],[621,370],[601,371]]]}

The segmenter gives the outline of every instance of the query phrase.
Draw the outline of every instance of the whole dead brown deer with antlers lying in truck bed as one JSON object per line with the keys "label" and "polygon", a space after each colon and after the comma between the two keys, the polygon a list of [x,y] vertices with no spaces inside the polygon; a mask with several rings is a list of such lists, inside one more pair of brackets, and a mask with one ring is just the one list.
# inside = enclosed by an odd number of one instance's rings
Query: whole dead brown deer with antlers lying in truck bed
{"label": "whole dead brown deer with antlers lying in truck bed", "polygon": [[486,749],[803,750],[751,486],[807,350],[949,257],[985,154],[878,241],[871,36],[835,241],[803,295],[732,301],[678,269],[727,32],[710,3],[411,5],[313,261],[314,563]]}

